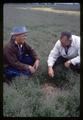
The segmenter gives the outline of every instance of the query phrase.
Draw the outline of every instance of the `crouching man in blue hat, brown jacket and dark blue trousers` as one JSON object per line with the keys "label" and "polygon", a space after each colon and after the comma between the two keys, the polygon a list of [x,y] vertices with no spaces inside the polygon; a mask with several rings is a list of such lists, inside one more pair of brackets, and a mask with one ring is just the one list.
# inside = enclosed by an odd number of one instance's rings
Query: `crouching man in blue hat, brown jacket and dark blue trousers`
{"label": "crouching man in blue hat, brown jacket and dark blue trousers", "polygon": [[25,26],[14,27],[10,41],[4,46],[4,73],[6,78],[31,75],[39,66],[39,57],[27,43]]}

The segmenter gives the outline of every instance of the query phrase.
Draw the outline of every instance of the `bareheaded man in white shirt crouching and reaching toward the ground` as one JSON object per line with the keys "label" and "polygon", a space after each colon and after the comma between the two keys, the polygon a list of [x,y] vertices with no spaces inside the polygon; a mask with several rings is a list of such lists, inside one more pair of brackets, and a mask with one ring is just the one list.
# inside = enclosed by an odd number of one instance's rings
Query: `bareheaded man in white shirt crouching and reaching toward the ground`
{"label": "bareheaded man in white shirt crouching and reaching toward the ground", "polygon": [[[62,32],[48,56],[48,75],[54,77],[56,74],[56,64],[64,62],[66,68],[71,68],[80,72],[80,37],[72,35],[70,32]],[[55,69],[54,69],[55,68]]]}

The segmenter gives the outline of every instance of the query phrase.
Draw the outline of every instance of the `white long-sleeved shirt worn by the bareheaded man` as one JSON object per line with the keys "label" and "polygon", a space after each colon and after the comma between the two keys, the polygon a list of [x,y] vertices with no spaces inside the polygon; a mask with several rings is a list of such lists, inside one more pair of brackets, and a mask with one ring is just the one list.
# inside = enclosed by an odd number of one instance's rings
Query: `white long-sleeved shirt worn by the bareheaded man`
{"label": "white long-sleeved shirt worn by the bareheaded man", "polygon": [[69,59],[73,65],[80,63],[80,37],[72,35],[71,46],[67,54],[60,40],[58,40],[48,56],[48,66],[52,67],[59,56]]}

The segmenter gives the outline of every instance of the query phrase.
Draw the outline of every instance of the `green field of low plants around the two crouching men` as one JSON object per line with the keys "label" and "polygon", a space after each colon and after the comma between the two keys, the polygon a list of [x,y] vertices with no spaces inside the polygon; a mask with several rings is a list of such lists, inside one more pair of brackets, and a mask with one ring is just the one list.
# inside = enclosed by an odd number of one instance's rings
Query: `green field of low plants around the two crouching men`
{"label": "green field of low plants around the two crouching men", "polygon": [[47,59],[62,31],[80,35],[80,11],[70,10],[68,14],[54,8],[55,12],[50,11],[49,7],[36,9],[4,4],[3,42],[10,39],[13,26],[25,25],[27,43],[40,56],[40,66],[31,77],[16,77],[11,86],[3,84],[3,114],[7,117],[79,117],[80,75],[60,64],[51,79],[47,75]]}

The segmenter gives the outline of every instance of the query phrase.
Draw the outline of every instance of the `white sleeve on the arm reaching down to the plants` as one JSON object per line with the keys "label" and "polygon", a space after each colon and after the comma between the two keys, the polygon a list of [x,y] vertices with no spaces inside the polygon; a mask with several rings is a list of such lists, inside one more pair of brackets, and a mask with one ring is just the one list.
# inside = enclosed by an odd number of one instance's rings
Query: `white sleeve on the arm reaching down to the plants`
{"label": "white sleeve on the arm reaching down to the plants", "polygon": [[48,56],[48,60],[47,60],[48,66],[53,67],[55,61],[60,56],[59,48],[60,48],[60,41],[58,40]]}

